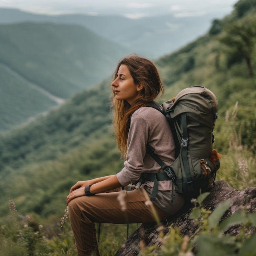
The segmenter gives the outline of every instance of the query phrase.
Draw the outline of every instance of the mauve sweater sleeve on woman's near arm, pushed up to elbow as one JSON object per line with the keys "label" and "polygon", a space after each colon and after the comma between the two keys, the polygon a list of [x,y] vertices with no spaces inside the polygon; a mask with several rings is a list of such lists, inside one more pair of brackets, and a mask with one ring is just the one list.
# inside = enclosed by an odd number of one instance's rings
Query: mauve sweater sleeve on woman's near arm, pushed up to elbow
{"label": "mauve sweater sleeve on woman's near arm, pushed up to elbow", "polygon": [[130,122],[124,168],[117,173],[117,179],[122,186],[139,180],[144,170],[143,160],[146,155],[149,133],[150,128],[147,120],[135,112]]}

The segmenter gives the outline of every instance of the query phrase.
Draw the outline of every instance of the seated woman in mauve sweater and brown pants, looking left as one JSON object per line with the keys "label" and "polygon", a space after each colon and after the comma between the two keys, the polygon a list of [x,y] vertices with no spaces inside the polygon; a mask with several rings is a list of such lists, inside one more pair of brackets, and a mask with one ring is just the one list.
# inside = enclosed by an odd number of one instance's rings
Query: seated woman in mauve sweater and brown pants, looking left
{"label": "seated woman in mauve sweater and brown pants, looking left", "polygon": [[[67,196],[70,223],[79,256],[99,255],[95,222],[154,222],[152,210],[145,204],[154,182],[138,182],[136,188],[121,192],[121,187],[139,181],[142,173],[163,173],[162,168],[146,153],[152,148],[166,165],[174,161],[175,145],[164,115],[148,107],[163,91],[155,65],[146,58],[130,55],[117,65],[112,82],[113,124],[117,146],[125,159],[124,168],[116,175],[77,182]],[[171,200],[171,180],[158,182],[153,207],[160,219],[174,214],[184,204],[175,193]],[[145,193],[146,191],[146,193]],[[109,193],[103,193],[109,192]],[[123,202],[119,202],[124,193]],[[92,196],[90,196],[92,195]]]}

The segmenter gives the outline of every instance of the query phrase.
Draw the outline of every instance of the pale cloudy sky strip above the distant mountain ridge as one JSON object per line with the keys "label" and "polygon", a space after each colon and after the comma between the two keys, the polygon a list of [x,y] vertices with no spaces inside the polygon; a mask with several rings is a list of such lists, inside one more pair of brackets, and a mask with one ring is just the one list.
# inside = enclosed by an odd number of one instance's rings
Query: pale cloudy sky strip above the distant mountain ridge
{"label": "pale cloudy sky strip above the distant mountain ridge", "polygon": [[47,14],[117,14],[128,18],[173,13],[176,17],[231,12],[238,0],[0,0],[0,7]]}

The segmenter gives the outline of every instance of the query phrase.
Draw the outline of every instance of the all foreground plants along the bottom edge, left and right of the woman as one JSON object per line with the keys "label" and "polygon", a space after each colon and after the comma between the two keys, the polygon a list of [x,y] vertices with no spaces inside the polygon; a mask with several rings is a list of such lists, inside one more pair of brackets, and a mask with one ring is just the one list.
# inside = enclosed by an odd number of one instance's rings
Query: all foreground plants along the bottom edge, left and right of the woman
{"label": "all foreground plants along the bottom edge, left and right of the woman", "polygon": [[[198,225],[198,231],[193,237],[180,234],[177,227],[169,227],[169,234],[164,236],[163,229],[159,225],[158,245],[146,247],[141,240],[140,254],[142,256],[254,256],[256,247],[254,246],[256,232],[256,213],[247,213],[249,205],[240,207],[232,216],[220,222],[223,214],[231,205],[231,200],[222,203],[214,211],[204,209],[202,202],[209,193],[201,194],[197,200],[192,200],[194,204],[190,218]],[[67,221],[67,210],[61,218],[58,234],[53,236],[49,229],[43,225],[36,225],[36,222],[30,216],[21,218],[18,216],[15,204],[9,201],[10,213],[5,225],[0,229],[0,254],[3,256],[75,256],[76,249],[70,225]],[[157,217],[157,216],[156,216]],[[220,222],[220,223],[219,223]],[[231,226],[239,225],[238,236],[226,234],[225,231]],[[105,234],[101,234],[99,249],[101,255],[111,256],[115,254],[121,243],[124,242],[124,229],[118,226],[120,234],[119,239],[116,236],[116,230],[113,233],[105,227]],[[124,227],[124,226],[123,226]],[[132,229],[136,227],[133,226]],[[110,231],[110,232],[109,232]],[[106,234],[107,232],[107,234]],[[143,232],[143,231],[142,231]],[[141,234],[143,237],[143,234]],[[114,240],[111,236],[116,236]],[[102,239],[103,238],[103,239]],[[160,246],[159,246],[160,245]]]}

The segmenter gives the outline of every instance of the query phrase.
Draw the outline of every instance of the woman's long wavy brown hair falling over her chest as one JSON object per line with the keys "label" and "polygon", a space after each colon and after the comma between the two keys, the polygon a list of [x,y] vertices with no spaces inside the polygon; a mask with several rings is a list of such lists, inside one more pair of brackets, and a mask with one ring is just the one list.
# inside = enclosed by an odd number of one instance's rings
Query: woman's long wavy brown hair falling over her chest
{"label": "woman's long wavy brown hair falling over her chest", "polygon": [[144,85],[143,89],[140,91],[139,99],[132,103],[132,105],[130,105],[126,100],[117,100],[113,90],[113,125],[117,139],[117,146],[121,155],[125,158],[127,152],[130,115],[138,108],[146,106],[148,102],[156,99],[160,93],[162,95],[164,93],[164,86],[160,79],[159,72],[153,62],[136,54],[126,56],[119,61],[114,73],[113,81],[117,78],[117,72],[122,64],[128,67],[133,78],[133,82],[136,85],[139,83]]}

